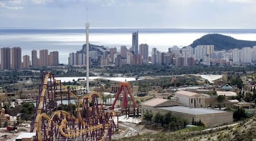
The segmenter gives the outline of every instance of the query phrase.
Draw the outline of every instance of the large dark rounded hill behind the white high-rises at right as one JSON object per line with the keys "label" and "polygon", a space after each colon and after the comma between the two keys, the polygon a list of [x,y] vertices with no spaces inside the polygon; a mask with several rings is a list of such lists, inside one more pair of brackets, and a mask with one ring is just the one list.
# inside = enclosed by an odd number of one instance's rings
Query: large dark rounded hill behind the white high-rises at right
{"label": "large dark rounded hill behind the white high-rises at right", "polygon": [[253,47],[256,46],[256,41],[234,39],[223,34],[206,34],[190,44],[192,47],[196,47],[197,45],[214,45],[215,50],[229,50],[235,48],[242,49],[242,47]]}

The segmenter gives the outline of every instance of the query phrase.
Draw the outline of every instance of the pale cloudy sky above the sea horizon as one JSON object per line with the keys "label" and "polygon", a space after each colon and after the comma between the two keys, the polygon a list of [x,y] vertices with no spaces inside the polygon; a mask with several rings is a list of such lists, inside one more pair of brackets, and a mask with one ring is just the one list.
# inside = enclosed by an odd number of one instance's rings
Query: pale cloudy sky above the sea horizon
{"label": "pale cloudy sky above the sea horizon", "polygon": [[0,0],[0,28],[87,20],[94,28],[256,28],[256,0]]}

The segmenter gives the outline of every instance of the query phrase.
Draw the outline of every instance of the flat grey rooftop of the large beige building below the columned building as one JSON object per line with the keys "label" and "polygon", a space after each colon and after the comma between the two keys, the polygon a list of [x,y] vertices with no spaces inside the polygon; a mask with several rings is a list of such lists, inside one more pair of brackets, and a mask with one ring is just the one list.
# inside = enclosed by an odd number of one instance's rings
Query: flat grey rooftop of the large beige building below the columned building
{"label": "flat grey rooftop of the large beige building below the columned building", "polygon": [[214,114],[214,113],[226,113],[227,111],[214,110],[209,108],[189,108],[189,107],[160,107],[159,109],[176,111],[179,113],[187,113],[190,115],[205,115],[205,114]]}

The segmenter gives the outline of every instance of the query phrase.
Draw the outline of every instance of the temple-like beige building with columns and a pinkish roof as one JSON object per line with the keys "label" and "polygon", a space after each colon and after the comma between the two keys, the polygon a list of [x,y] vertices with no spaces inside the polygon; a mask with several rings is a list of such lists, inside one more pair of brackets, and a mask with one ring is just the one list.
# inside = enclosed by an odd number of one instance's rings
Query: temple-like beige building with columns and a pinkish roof
{"label": "temple-like beige building with columns and a pinkish roof", "polygon": [[189,91],[177,91],[175,97],[179,103],[190,108],[205,107],[205,95]]}

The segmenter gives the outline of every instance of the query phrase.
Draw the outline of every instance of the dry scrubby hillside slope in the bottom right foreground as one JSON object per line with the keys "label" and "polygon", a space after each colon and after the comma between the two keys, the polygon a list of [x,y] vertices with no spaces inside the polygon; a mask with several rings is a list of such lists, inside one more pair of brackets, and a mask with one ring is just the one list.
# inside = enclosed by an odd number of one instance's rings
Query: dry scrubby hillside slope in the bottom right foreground
{"label": "dry scrubby hillside slope in the bottom right foreground", "polygon": [[148,133],[126,137],[121,140],[253,140],[256,139],[256,119],[250,118],[242,123],[205,129],[191,127],[176,132]]}

